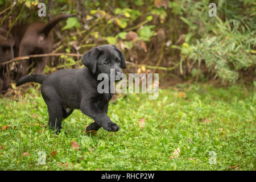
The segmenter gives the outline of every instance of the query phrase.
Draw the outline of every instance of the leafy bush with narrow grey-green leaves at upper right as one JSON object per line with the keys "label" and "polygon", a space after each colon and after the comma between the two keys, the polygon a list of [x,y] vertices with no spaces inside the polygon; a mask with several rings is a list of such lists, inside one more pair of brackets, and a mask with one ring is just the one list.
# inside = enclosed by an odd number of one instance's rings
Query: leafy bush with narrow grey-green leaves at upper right
{"label": "leafy bush with narrow grey-green leaves at upper right", "polygon": [[[218,2],[218,14],[220,17],[225,15],[222,18],[224,20],[217,16],[208,22],[205,15],[198,16],[197,20],[196,16],[189,16],[189,19],[181,17],[189,25],[191,32],[198,31],[202,34],[201,39],[188,39],[188,44],[181,47],[181,53],[184,60],[197,60],[199,64],[205,61],[207,67],[213,69],[222,80],[234,82],[239,77],[238,71],[255,68],[256,65],[255,7],[250,6],[253,1]],[[197,2],[194,7],[201,4],[202,2]],[[188,8],[193,9],[193,6]],[[196,34],[187,34],[187,38],[193,36]]]}

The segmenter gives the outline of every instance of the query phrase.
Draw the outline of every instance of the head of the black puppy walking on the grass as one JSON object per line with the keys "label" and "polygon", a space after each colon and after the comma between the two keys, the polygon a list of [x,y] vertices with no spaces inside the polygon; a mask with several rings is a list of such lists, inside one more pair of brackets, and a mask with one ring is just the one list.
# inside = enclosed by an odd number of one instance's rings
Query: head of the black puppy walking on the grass
{"label": "head of the black puppy walking on the grass", "polygon": [[113,81],[119,81],[123,73],[122,68],[126,68],[125,56],[114,45],[98,46],[90,49],[82,55],[82,63],[94,74],[105,73]]}

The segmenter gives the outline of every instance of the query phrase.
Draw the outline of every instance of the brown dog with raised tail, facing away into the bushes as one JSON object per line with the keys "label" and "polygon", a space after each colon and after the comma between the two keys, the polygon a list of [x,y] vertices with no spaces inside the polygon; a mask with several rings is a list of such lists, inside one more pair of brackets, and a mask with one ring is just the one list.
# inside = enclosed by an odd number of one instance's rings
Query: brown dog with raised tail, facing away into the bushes
{"label": "brown dog with raised tail, facing away into the bushes", "polygon": [[[54,43],[52,28],[56,26],[61,20],[68,19],[75,15],[67,14],[61,15],[53,19],[48,24],[44,22],[33,22],[30,24],[22,24],[13,27],[11,30],[15,38],[14,55],[27,56],[35,54],[50,53]],[[33,74],[40,74],[46,65],[49,57],[39,57],[36,61],[26,60],[18,64],[18,71],[15,80],[27,75],[27,68],[32,62],[32,67],[35,68]]]}

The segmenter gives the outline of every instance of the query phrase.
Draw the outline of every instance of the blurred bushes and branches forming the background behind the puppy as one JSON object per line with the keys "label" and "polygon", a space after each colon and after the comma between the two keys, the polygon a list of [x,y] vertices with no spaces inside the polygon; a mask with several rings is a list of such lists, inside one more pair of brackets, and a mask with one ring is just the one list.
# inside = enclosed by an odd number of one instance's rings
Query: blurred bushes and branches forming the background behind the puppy
{"label": "blurred bushes and branches forming the background behind the puppy", "polygon": [[[210,2],[217,4],[217,17],[208,15]],[[255,77],[253,0],[44,1],[46,18],[37,16],[38,3],[0,0],[0,26],[47,22],[59,14],[73,13],[76,18],[60,23],[54,30],[59,40],[55,52],[84,53],[109,43],[121,48],[127,60],[136,65],[130,68],[133,72],[153,69],[183,80],[220,78],[230,83]],[[76,62],[79,58],[62,58],[52,57],[49,66],[80,67]],[[55,69],[48,67],[46,72]]]}

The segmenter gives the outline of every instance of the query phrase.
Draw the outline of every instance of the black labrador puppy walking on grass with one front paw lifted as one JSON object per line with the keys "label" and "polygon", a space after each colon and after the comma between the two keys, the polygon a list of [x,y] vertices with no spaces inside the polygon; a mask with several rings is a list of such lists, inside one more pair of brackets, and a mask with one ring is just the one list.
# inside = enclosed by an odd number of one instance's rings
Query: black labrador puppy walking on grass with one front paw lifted
{"label": "black labrador puppy walking on grass with one front paw lifted", "polygon": [[80,109],[95,121],[86,131],[97,131],[100,127],[107,131],[118,131],[119,126],[107,115],[113,93],[98,93],[97,85],[100,80],[97,80],[97,76],[106,73],[110,77],[112,69],[115,73],[114,81],[118,81],[122,68],[126,68],[125,56],[114,45],[104,45],[86,52],[82,56],[82,63],[86,67],[64,69],[51,75],[27,75],[20,78],[16,85],[26,82],[42,84],[41,93],[49,113],[48,125],[52,129],[60,131],[61,120],[67,118],[74,109]]}

